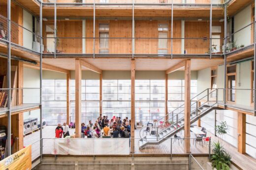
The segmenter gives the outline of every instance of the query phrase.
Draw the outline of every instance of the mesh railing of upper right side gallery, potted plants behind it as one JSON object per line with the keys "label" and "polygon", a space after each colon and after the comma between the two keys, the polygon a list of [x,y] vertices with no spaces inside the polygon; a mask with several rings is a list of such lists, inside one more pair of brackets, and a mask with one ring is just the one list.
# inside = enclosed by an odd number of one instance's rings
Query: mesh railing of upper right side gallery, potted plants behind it
{"label": "mesh railing of upper right side gallery, potted plants behind it", "polygon": [[242,48],[248,48],[254,44],[255,23],[248,24],[235,31],[226,38],[226,53]]}

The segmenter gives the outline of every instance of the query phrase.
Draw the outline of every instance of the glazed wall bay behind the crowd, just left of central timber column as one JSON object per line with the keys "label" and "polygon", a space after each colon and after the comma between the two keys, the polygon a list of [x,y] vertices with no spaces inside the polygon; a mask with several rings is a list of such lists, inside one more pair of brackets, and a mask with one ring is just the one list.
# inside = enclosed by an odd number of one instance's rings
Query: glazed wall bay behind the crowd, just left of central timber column
{"label": "glazed wall bay behind the crowd, just left of central timber column", "polygon": [[130,80],[102,80],[102,115],[130,119]]}

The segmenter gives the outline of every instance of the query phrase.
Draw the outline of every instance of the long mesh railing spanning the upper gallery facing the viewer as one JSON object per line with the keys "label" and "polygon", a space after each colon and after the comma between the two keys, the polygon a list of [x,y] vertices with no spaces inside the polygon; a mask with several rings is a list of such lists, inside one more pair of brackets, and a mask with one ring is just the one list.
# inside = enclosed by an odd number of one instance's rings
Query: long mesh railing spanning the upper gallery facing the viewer
{"label": "long mesh railing spanning the upper gallery facing the viewer", "polygon": [[[94,43],[95,39],[95,43]],[[131,55],[133,38],[80,38],[80,37],[58,37],[44,38],[45,54],[99,54],[99,55]],[[223,39],[217,40],[220,44]],[[160,42],[161,41],[161,42]],[[172,42],[172,43],[171,43]],[[170,56],[173,55],[210,55],[209,38],[134,38],[134,55],[147,56]],[[164,44],[164,45],[163,45]],[[171,46],[172,44],[172,46]],[[164,46],[164,48],[160,47]],[[104,48],[102,48],[104,47]],[[95,49],[95,50],[94,50]],[[212,55],[222,54],[221,46],[211,49]]]}

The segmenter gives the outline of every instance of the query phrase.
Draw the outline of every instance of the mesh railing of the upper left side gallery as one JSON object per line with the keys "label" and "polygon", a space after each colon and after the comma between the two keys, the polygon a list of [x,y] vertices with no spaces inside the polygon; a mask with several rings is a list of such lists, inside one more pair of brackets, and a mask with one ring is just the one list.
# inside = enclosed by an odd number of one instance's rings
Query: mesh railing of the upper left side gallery
{"label": "mesh railing of the upper left side gallery", "polygon": [[40,52],[40,36],[31,30],[11,21],[11,32],[8,34],[8,19],[0,15],[0,40],[8,42],[10,36],[10,42],[12,45],[22,47],[34,52]]}

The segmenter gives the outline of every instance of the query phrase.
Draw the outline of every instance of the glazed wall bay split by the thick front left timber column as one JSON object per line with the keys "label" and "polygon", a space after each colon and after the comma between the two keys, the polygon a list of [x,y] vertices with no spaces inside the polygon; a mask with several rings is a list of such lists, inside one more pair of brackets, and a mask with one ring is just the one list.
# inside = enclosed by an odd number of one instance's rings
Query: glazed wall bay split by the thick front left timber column
{"label": "glazed wall bay split by the thick front left timber column", "polygon": [[[99,80],[81,80],[81,122],[99,117]],[[70,121],[75,121],[75,80],[70,80]]]}

